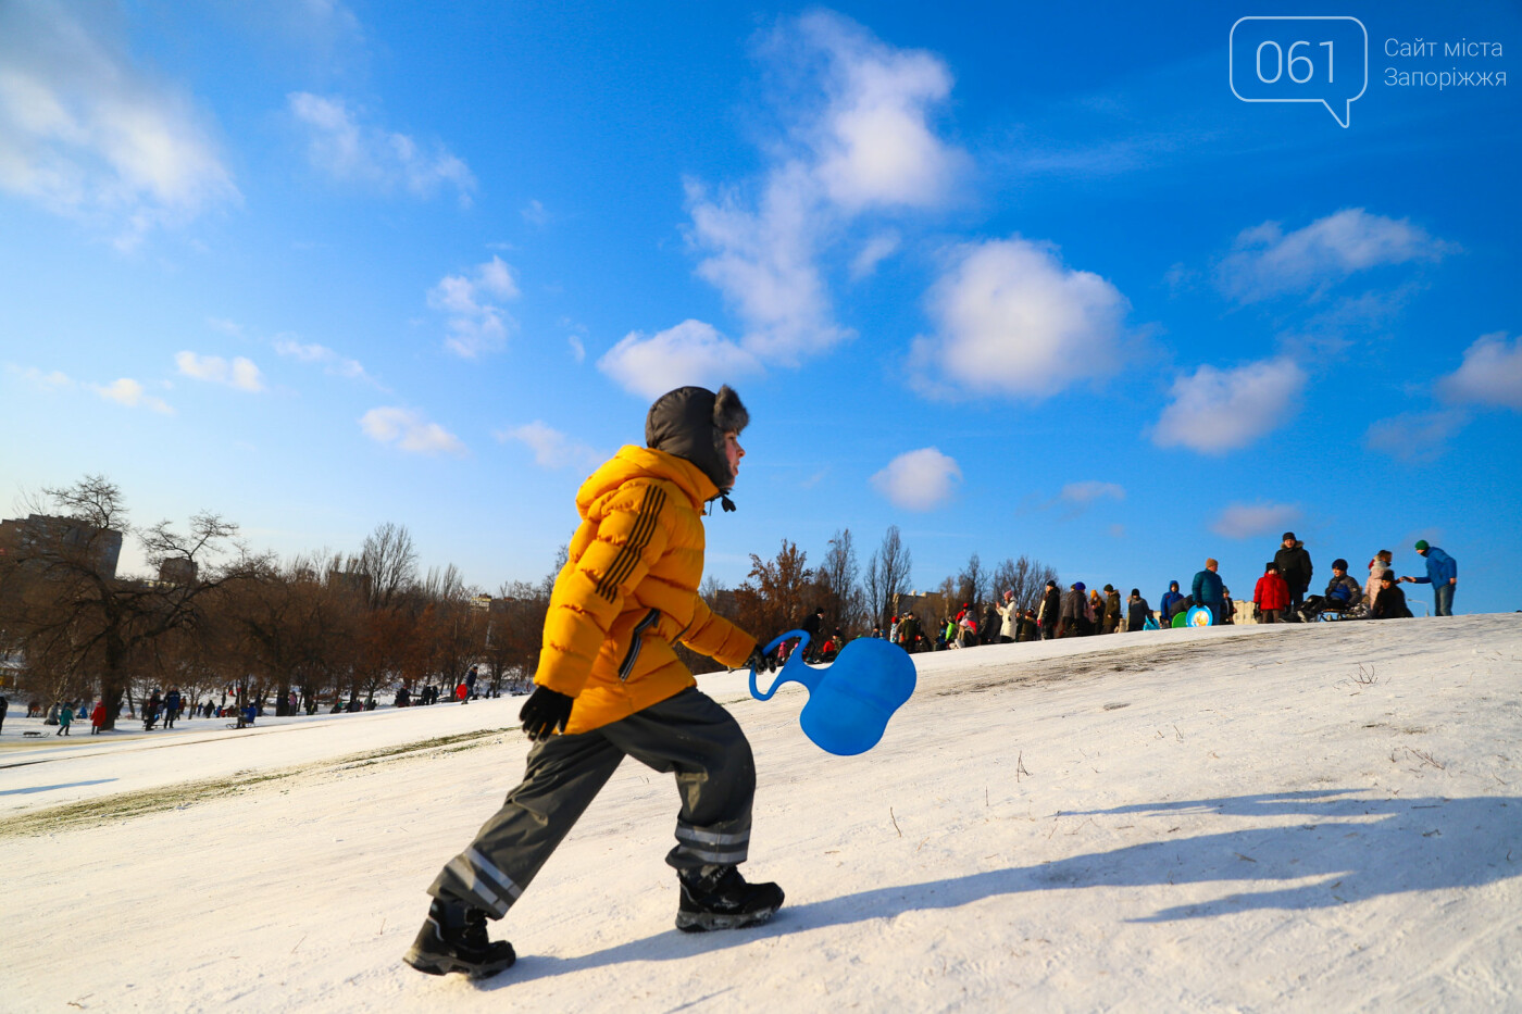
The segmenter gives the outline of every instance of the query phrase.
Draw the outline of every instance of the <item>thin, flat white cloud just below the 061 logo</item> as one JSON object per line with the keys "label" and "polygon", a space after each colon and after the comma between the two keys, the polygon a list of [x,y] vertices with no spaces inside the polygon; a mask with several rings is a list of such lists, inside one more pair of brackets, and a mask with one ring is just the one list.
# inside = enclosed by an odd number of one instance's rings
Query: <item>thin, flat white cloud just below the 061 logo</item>
{"label": "thin, flat white cloud just below the 061 logo", "polygon": [[1326,288],[1379,265],[1438,260],[1455,250],[1409,219],[1350,207],[1292,233],[1278,222],[1243,230],[1234,251],[1218,266],[1216,280],[1228,297],[1253,303]]}

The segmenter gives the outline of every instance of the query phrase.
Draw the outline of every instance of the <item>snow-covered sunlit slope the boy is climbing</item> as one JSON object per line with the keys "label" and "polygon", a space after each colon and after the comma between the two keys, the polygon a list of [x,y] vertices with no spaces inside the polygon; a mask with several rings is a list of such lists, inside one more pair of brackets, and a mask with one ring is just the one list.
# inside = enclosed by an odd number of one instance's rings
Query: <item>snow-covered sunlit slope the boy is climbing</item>
{"label": "snow-covered sunlit slope the boy is climbing", "polygon": [[871,752],[705,678],[756,754],[764,927],[673,929],[676,793],[626,761],[470,984],[400,965],[522,773],[521,700],[0,732],[0,1008],[1522,1006],[1522,615],[919,656]]}

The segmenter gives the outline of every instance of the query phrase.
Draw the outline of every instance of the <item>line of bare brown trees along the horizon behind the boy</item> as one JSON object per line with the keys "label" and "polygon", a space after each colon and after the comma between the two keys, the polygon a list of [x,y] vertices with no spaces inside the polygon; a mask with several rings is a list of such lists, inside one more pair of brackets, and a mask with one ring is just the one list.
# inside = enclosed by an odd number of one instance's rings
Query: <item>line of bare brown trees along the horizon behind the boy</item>
{"label": "line of bare brown trees along the horizon behind the boy", "polygon": [[[178,687],[187,702],[269,703],[275,714],[362,706],[399,687],[451,688],[472,665],[490,691],[527,684],[556,566],[537,582],[507,582],[486,595],[452,563],[419,566],[405,525],[382,524],[355,553],[280,559],[240,539],[239,527],[202,512],[187,525],[135,527],[120,489],[100,475],[43,489],[24,504],[67,524],[38,524],[0,545],[0,655],[15,690],[44,703],[99,700],[107,728],[152,690]],[[103,565],[111,540],[135,539],[158,579],[117,577]],[[913,559],[896,527],[866,568],[849,528],[829,539],[817,566],[784,539],[776,556],[752,554],[734,589],[709,579],[708,604],[761,638],[799,626],[816,609],[846,636],[887,629],[910,591]],[[950,611],[1015,591],[1033,606],[1050,568],[1027,557],[986,569],[968,565],[936,588]],[[938,617],[922,617],[935,620]],[[717,665],[679,647],[694,671]]]}

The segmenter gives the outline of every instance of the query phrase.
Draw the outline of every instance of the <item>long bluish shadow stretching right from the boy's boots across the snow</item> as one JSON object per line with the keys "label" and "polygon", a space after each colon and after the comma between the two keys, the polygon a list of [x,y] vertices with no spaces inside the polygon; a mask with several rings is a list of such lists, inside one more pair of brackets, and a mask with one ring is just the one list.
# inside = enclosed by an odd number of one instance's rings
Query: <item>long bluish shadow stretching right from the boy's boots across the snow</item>
{"label": "long bluish shadow stretching right from the boy's boots across the snow", "polygon": [[[1254,909],[1309,910],[1409,891],[1475,888],[1522,872],[1522,798],[1370,799],[1355,792],[1329,789],[1064,812],[1059,819],[1157,819],[1160,836],[1170,833],[1173,828],[1164,825],[1181,815],[1266,818],[1275,824],[846,894],[784,907],[775,921],[753,930],[700,936],[668,930],[578,958],[527,956],[511,974],[484,981],[479,988],[630,961],[680,961],[764,936],[890,920],[915,910],[954,909],[1032,891],[1231,885],[1218,898],[1173,904],[1129,920],[1166,923]],[[1300,821],[1286,824],[1285,818]],[[1303,883],[1307,880],[1310,883]]]}

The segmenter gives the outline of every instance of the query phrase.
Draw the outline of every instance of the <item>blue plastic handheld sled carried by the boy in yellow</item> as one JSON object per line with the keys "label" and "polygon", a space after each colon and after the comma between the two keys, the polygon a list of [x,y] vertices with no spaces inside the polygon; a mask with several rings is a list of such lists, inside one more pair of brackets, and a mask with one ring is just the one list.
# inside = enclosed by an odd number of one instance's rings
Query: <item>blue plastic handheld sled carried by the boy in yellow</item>
{"label": "blue plastic handheld sled carried by the boy in yellow", "polygon": [[808,635],[788,630],[763,649],[767,655],[788,638],[802,638],[787,656],[772,690],[761,693],[756,671],[750,670],[750,696],[770,700],[785,682],[808,687],[808,703],[799,716],[804,735],[819,749],[837,757],[855,757],[877,746],[893,717],[915,693],[915,664],[896,644],[878,638],[857,638],[846,644],[831,665],[804,664]]}

